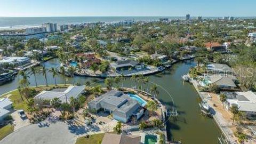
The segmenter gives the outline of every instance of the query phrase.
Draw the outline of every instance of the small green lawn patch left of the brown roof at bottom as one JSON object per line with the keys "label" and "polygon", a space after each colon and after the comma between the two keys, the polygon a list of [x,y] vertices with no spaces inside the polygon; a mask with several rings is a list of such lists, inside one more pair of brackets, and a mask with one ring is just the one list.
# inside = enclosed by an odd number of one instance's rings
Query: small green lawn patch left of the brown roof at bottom
{"label": "small green lawn patch left of the brown roof at bottom", "polygon": [[91,144],[91,143],[98,143],[99,140],[102,140],[104,137],[104,133],[99,133],[99,134],[93,134],[90,135],[90,138],[85,138],[85,137],[80,137],[77,138],[76,144]]}

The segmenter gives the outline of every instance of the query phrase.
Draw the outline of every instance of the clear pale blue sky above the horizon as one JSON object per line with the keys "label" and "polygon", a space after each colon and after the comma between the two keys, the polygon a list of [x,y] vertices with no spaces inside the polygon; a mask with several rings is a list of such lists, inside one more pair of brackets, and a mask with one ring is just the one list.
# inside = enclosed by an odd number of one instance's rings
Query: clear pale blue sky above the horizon
{"label": "clear pale blue sky above the horizon", "polygon": [[0,17],[254,17],[255,0],[0,0]]}

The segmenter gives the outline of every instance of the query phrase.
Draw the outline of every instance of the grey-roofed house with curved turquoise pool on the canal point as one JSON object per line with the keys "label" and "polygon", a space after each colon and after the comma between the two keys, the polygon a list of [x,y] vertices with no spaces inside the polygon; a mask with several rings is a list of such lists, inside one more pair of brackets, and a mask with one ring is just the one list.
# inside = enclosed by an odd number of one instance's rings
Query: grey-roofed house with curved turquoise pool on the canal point
{"label": "grey-roofed house with curved turquoise pool on the canal point", "polygon": [[127,123],[132,116],[139,119],[144,113],[143,107],[146,104],[147,102],[138,95],[111,90],[90,101],[88,106],[89,109],[108,112],[117,121]]}

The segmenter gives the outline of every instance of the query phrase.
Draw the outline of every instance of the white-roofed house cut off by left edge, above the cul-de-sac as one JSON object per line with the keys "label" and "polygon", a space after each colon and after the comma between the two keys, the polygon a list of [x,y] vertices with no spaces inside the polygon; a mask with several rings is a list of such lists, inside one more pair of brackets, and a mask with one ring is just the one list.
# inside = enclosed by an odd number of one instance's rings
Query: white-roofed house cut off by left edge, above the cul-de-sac
{"label": "white-roofed house cut off by left edge, above the cul-de-sac", "polygon": [[12,108],[12,102],[8,98],[0,99],[0,122],[9,115]]}

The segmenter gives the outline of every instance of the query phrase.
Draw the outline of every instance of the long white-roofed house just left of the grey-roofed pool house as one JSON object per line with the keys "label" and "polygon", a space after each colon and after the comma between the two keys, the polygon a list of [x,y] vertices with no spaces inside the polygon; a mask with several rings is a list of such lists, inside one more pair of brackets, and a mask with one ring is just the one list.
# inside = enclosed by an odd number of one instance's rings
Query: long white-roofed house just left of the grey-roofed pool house
{"label": "long white-roofed house just left of the grey-roofed pool house", "polygon": [[67,89],[53,89],[52,91],[42,91],[37,94],[36,100],[52,100],[59,98],[61,102],[68,102],[71,97],[77,99],[83,92],[85,86],[69,86]]}

